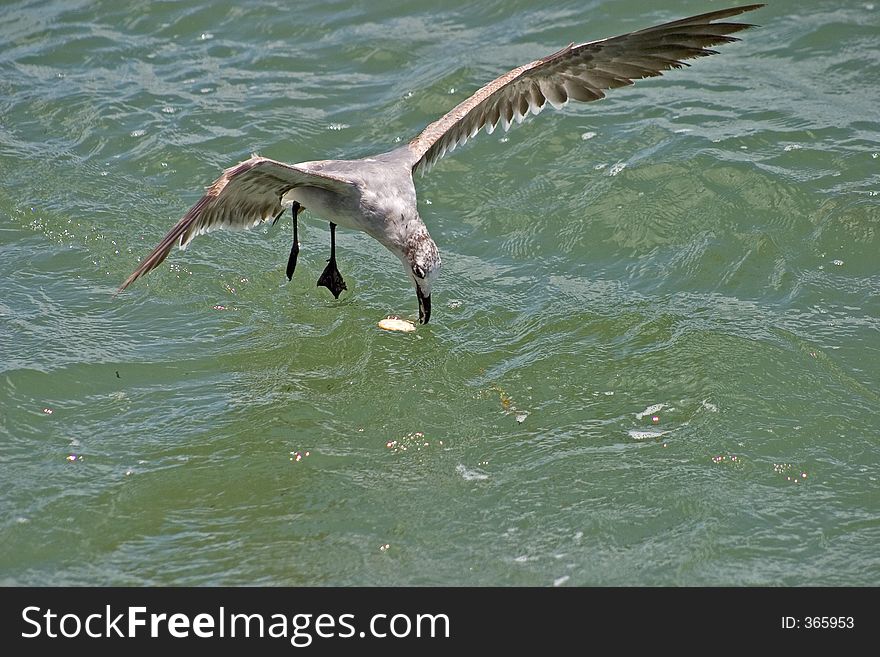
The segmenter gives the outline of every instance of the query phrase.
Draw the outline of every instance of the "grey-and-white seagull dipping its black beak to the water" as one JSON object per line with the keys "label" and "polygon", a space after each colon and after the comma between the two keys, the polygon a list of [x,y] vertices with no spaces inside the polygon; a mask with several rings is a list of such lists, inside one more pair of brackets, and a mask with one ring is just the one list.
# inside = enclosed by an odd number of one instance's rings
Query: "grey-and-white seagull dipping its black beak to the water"
{"label": "grey-and-white seagull dipping its black beak to the water", "polygon": [[287,278],[299,255],[297,219],[308,209],[330,222],[330,258],[319,287],[335,298],[346,289],[336,264],[336,226],[361,230],[396,255],[416,289],[419,323],[431,319],[431,290],[440,274],[440,252],[419,216],[413,174],[425,173],[446,153],[499,124],[507,131],[549,103],[589,102],[605,91],[688,66],[684,60],[717,54],[712,46],[738,39],[754,27],[724,19],[763,7],[745,5],[656,25],[616,37],[571,43],[496,78],[428,125],[405,146],[358,160],[286,164],[253,155],[226,169],[204,196],[168,231],[117,293],[157,267],[175,244],[181,249],[212,230],[246,229],[277,222],[290,210],[293,246]]}

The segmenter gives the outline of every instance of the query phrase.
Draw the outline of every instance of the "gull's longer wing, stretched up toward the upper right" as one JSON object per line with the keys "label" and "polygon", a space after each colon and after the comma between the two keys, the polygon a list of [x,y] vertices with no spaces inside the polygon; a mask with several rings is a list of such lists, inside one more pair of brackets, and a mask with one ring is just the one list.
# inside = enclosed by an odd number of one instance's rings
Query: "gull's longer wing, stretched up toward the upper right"
{"label": "gull's longer wing, stretched up toward the upper right", "polygon": [[570,99],[604,98],[605,89],[687,66],[685,59],[714,55],[711,46],[738,41],[728,36],[752,25],[715,22],[763,4],[746,5],[692,16],[609,39],[562,50],[515,68],[493,80],[409,142],[413,172],[427,171],[447,151],[500,122],[505,130],[546,103],[559,108]]}

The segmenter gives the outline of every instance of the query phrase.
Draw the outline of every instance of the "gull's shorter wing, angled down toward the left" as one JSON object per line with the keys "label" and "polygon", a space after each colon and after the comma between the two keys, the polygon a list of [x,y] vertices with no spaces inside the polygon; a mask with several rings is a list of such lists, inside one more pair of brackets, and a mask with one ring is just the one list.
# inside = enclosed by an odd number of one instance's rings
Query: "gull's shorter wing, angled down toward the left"
{"label": "gull's shorter wing, angled down toward the left", "polygon": [[281,198],[285,193],[302,186],[346,192],[351,191],[356,183],[338,174],[321,171],[320,162],[291,165],[254,155],[226,169],[207,188],[205,195],[125,279],[117,293],[155,269],[168,257],[175,243],[185,249],[194,237],[202,233],[257,226],[281,212]]}

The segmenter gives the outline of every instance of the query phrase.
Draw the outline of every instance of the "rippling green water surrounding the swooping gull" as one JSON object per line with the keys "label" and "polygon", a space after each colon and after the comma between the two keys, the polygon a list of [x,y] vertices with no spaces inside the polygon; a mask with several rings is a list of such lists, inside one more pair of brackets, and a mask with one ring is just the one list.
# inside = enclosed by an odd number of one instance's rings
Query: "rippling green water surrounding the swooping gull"
{"label": "rippling green water surrounding the swooping gull", "polygon": [[[387,150],[733,0],[0,5],[0,583],[880,584],[880,3],[417,180],[432,322],[323,220],[115,288],[218,172]],[[658,421],[654,421],[657,416]]]}

